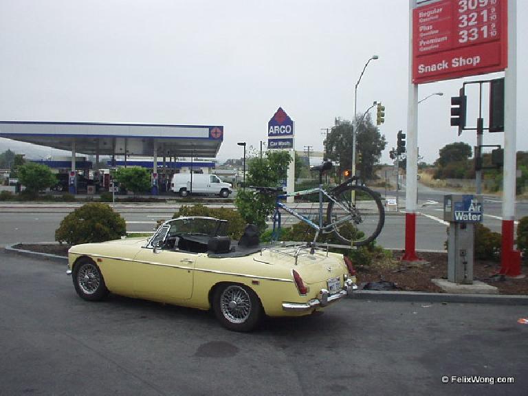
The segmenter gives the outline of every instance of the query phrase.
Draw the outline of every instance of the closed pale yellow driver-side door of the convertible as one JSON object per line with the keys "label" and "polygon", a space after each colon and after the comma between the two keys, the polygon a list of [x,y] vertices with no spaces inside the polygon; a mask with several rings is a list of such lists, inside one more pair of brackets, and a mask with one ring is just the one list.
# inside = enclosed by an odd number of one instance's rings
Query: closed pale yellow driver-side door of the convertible
{"label": "closed pale yellow driver-side door of the convertible", "polygon": [[180,250],[143,248],[134,259],[135,296],[166,303],[188,300],[197,256]]}

